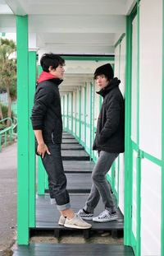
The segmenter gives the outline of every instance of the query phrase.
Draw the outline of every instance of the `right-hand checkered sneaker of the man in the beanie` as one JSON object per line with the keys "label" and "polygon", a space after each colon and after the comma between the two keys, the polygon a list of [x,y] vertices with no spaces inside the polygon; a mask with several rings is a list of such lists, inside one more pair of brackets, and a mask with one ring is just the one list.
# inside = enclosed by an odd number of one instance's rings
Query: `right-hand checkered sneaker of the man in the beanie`
{"label": "right-hand checkered sneaker of the man in the beanie", "polygon": [[118,218],[116,212],[109,212],[105,210],[101,212],[98,216],[93,217],[93,221],[96,222],[107,222],[107,221],[115,221]]}

